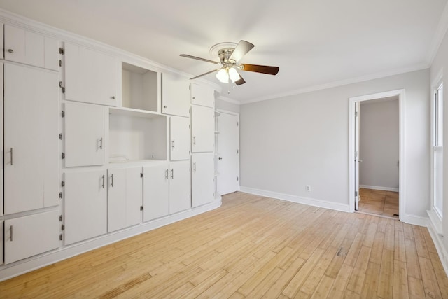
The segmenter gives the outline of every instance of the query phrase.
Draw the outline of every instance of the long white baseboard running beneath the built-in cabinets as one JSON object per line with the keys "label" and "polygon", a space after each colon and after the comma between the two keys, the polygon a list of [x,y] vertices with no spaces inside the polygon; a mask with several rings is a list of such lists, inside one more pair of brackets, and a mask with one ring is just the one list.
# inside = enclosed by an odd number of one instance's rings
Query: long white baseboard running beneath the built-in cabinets
{"label": "long white baseboard running beneath the built-in cabinets", "polygon": [[78,242],[69,246],[65,246],[48,253],[43,253],[39,256],[34,256],[27,258],[26,260],[19,260],[18,262],[11,263],[10,265],[3,265],[0,267],[0,281],[10,279],[27,272],[37,270],[41,267],[57,263],[61,260],[71,258],[73,256],[78,256],[81,253],[97,249],[102,246],[106,246],[129,237],[134,237],[140,235],[141,233],[148,232],[150,230],[155,230],[162,226],[181,221],[186,218],[190,218],[206,211],[211,211],[221,207],[222,201],[221,196],[216,198],[214,202],[206,204],[195,209],[189,209],[186,211],[181,211],[174,215],[169,215],[163,218],[155,219],[153,221],[148,221],[140,225],[127,228],[125,230],[120,230],[118,232],[111,232],[107,235],[102,235],[95,237],[93,239],[88,239],[83,242]]}

